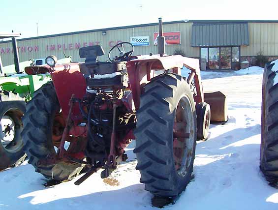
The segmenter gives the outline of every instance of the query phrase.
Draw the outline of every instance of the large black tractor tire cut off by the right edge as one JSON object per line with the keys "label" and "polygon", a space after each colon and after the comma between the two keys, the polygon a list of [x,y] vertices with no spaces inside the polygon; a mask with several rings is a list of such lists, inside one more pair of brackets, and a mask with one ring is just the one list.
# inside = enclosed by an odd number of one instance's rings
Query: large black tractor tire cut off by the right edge
{"label": "large black tractor tire cut off by the right edge", "polygon": [[260,169],[278,186],[278,60],[265,65],[262,89]]}

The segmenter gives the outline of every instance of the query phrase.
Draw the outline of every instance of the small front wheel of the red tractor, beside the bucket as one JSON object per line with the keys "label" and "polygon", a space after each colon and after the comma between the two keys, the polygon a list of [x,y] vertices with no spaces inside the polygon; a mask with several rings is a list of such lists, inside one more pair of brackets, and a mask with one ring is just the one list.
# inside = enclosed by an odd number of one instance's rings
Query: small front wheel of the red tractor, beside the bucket
{"label": "small front wheel of the red tractor, beside the bucket", "polygon": [[197,104],[197,140],[206,140],[211,124],[211,107],[206,102]]}

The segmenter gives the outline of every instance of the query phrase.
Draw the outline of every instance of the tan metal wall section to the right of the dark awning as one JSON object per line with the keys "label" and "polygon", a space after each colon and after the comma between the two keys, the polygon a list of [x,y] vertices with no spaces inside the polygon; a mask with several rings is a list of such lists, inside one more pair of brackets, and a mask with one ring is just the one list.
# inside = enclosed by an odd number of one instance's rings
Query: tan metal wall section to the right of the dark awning
{"label": "tan metal wall section to the right of the dark awning", "polygon": [[248,23],[249,45],[241,46],[241,56],[278,56],[278,23]]}

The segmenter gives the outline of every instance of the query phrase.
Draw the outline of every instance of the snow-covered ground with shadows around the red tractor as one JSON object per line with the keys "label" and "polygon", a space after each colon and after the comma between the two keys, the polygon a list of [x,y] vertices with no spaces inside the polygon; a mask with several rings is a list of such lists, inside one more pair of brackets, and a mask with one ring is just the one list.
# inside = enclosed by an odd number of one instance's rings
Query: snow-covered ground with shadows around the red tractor
{"label": "snow-covered ground with shadows around the red tractor", "polygon": [[[184,73],[184,72],[183,72]],[[201,72],[206,91],[227,94],[229,120],[211,125],[210,138],[197,143],[194,175],[175,205],[165,210],[277,210],[278,189],[272,188],[259,170],[262,69],[235,72]],[[44,187],[44,178],[24,162],[0,172],[0,210],[151,210],[151,193],[139,182],[136,157],[111,177],[110,186],[93,174],[81,185],[74,181]]]}

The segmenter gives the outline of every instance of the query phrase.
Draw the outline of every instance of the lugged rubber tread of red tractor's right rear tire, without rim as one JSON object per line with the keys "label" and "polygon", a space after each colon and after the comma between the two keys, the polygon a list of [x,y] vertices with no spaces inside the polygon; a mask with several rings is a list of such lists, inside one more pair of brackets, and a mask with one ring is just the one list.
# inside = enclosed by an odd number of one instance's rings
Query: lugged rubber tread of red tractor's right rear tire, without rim
{"label": "lugged rubber tread of red tractor's right rear tire, without rim", "polygon": [[[145,190],[155,196],[177,196],[187,185],[183,183],[185,186],[182,190],[173,187],[169,171],[173,169],[174,163],[169,159],[169,132],[165,132],[173,123],[172,113],[176,108],[172,105],[173,98],[177,100],[180,97],[177,90],[181,91],[183,88],[190,90],[180,75],[167,73],[156,76],[145,86],[145,93],[140,96],[140,108],[136,111],[137,124],[134,129],[136,137],[134,153],[138,160],[136,170],[140,171],[140,182],[145,184]],[[191,90],[190,95],[193,100]],[[195,105],[192,108],[195,115],[194,107]]]}

